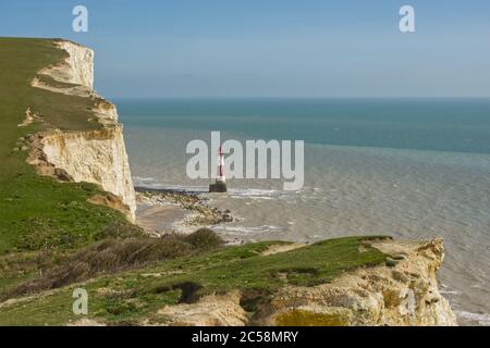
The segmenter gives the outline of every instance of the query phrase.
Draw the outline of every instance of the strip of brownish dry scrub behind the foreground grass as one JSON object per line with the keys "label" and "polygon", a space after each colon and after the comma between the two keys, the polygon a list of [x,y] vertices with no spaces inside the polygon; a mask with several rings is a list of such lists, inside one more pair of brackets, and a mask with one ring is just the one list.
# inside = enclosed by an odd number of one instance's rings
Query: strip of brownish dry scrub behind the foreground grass
{"label": "strip of brownish dry scrub behind the foreground grass", "polygon": [[[73,256],[49,264],[38,277],[29,279],[4,297],[29,295],[86,281],[100,274],[137,269],[157,261],[194,256],[219,248],[223,240],[212,231],[200,228],[189,235],[168,234],[160,238],[130,237],[106,239],[81,249]],[[38,270],[42,270],[38,268]]]}

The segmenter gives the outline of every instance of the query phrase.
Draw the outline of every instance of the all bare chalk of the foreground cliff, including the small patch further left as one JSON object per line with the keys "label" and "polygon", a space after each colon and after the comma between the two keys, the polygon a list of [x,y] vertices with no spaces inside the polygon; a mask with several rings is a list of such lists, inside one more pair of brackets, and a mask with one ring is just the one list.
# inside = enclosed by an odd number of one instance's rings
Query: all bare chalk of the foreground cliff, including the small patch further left
{"label": "all bare chalk of the foreground cliff, including the small patch further left", "polygon": [[285,285],[252,316],[241,306],[238,290],[210,295],[194,304],[168,306],[158,315],[168,325],[185,326],[457,325],[436,278],[444,258],[441,239],[379,239],[369,245],[387,254],[384,264],[358,268],[315,286]]}

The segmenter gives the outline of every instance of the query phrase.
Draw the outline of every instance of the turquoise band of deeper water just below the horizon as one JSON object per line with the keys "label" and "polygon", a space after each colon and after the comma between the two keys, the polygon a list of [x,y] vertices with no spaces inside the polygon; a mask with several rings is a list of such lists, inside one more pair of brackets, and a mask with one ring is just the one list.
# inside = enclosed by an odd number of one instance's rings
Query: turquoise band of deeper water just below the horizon
{"label": "turquoise band of deeper water just below the horizon", "polygon": [[122,121],[310,144],[490,153],[490,99],[117,101]]}

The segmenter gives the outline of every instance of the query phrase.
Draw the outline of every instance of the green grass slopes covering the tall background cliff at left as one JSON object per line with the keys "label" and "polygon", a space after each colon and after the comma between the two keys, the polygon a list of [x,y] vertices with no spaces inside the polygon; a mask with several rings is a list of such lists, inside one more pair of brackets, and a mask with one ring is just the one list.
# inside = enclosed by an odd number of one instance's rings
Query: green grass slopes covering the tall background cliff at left
{"label": "green grass slopes covering the tall background cliff at left", "polygon": [[[94,185],[41,177],[25,162],[26,151],[13,151],[19,138],[42,129],[100,127],[88,121],[94,100],[30,87],[40,69],[63,57],[52,40],[0,38],[0,254],[72,249],[111,224],[125,224],[121,213],[86,201],[98,191]],[[44,122],[17,127],[27,108]]]}

